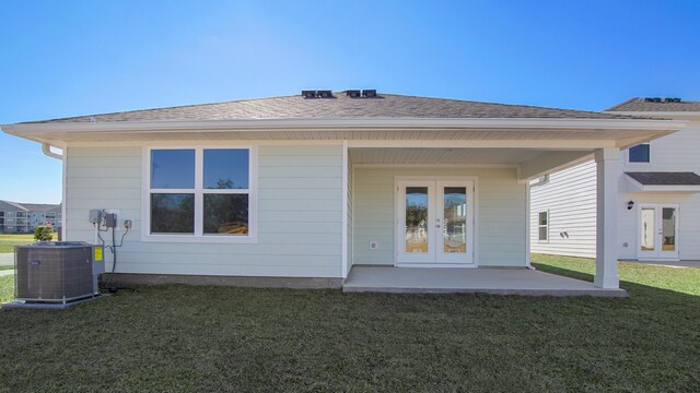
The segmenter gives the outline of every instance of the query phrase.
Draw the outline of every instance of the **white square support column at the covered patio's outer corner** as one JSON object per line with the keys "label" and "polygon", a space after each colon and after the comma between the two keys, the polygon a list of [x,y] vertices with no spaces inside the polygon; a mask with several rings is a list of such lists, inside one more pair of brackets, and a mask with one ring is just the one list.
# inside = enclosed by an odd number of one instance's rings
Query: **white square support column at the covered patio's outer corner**
{"label": "white square support column at the covered patio's outer corner", "polygon": [[597,166],[597,217],[595,247],[595,279],[599,288],[617,289],[617,209],[620,177],[620,150],[606,147],[595,152]]}

